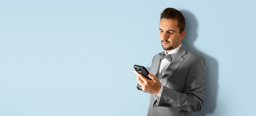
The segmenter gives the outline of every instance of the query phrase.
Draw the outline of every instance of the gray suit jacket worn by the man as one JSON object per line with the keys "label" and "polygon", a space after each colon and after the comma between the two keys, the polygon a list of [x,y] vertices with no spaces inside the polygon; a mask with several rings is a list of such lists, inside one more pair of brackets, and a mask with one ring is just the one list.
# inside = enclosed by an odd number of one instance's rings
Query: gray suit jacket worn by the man
{"label": "gray suit jacket worn by the man", "polygon": [[[150,73],[158,75],[160,63],[157,54]],[[192,116],[192,112],[200,111],[204,103],[205,75],[205,59],[181,45],[162,76],[164,87],[160,100],[151,94],[148,116]]]}

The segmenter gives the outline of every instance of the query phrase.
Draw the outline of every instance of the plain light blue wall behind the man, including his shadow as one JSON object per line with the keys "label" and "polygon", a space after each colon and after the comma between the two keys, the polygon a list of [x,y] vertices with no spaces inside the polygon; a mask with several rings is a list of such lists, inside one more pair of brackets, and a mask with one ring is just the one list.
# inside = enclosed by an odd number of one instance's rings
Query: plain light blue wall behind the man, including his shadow
{"label": "plain light blue wall behind the man, including his shadow", "polygon": [[205,57],[207,88],[195,116],[252,116],[253,0],[1,0],[0,116],[146,116],[133,65],[163,51],[160,13],[174,7],[182,44]]}

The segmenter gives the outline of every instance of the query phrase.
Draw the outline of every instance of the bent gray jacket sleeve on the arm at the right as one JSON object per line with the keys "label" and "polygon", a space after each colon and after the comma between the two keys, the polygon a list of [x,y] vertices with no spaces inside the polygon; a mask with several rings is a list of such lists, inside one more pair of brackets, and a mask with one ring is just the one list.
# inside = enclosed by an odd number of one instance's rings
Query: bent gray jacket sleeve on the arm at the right
{"label": "bent gray jacket sleeve on the arm at the right", "polygon": [[205,59],[198,57],[188,69],[184,93],[163,86],[162,95],[156,105],[176,107],[189,112],[200,111],[204,103],[205,76]]}

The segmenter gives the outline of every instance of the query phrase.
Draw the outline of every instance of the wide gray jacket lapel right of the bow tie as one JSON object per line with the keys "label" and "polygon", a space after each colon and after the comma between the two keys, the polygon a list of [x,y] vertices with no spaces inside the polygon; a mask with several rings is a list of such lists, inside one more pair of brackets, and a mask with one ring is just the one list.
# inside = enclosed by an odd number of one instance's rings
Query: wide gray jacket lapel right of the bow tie
{"label": "wide gray jacket lapel right of the bow tie", "polygon": [[178,69],[178,67],[183,62],[184,58],[182,56],[184,56],[186,54],[186,51],[187,51],[186,48],[183,45],[181,45],[181,48],[176,53],[176,55],[173,58],[173,60],[171,61],[170,65],[166,69],[166,73],[163,75],[163,77],[161,79],[161,83],[163,86],[167,85],[167,83],[170,80],[170,78],[172,77],[173,73],[175,73],[175,71]]}

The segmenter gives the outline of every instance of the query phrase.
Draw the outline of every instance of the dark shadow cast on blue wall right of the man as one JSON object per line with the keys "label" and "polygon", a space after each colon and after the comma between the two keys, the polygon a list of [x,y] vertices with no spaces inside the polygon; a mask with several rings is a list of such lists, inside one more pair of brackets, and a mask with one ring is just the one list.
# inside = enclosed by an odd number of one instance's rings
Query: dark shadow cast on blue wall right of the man
{"label": "dark shadow cast on blue wall right of the man", "polygon": [[[189,50],[195,52],[196,54],[203,56],[206,60],[206,88],[205,88],[205,96],[204,96],[204,105],[202,110],[199,112],[194,112],[195,116],[206,116],[206,114],[213,114],[216,108],[216,99],[218,94],[218,61],[215,58],[207,55],[196,49],[194,46],[194,42],[197,39],[197,29],[198,22],[196,17],[186,10],[181,10],[181,13],[184,15],[186,19],[186,34],[181,43],[188,48]],[[199,33],[200,34],[200,33]],[[207,47],[208,43],[205,43],[205,47]]]}

